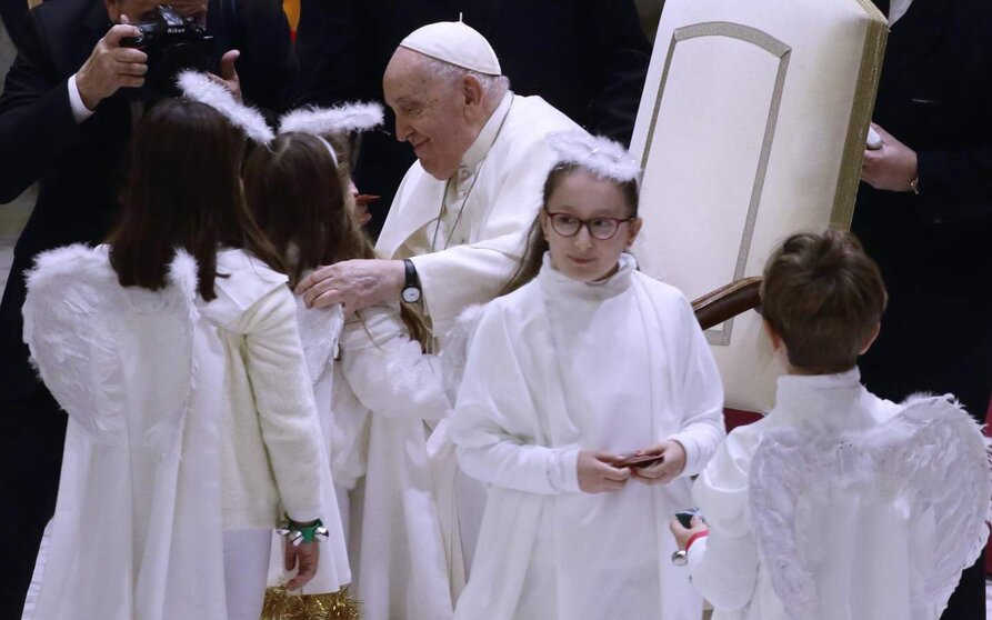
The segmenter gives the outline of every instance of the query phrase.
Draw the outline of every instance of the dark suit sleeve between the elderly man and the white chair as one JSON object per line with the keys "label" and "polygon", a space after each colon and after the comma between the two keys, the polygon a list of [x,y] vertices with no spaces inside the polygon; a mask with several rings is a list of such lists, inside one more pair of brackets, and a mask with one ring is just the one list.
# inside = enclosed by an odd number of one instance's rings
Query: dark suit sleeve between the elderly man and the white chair
{"label": "dark suit sleeve between the elderly man and the white chair", "polygon": [[630,143],[651,44],[633,0],[581,0],[583,57],[591,71],[589,131]]}

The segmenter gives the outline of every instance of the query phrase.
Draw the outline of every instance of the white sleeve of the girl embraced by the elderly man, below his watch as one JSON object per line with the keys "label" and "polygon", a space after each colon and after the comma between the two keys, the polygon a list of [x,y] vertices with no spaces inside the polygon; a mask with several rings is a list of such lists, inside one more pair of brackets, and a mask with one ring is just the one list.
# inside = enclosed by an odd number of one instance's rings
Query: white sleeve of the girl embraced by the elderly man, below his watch
{"label": "white sleeve of the girl embraced by the elderly man, below his watch", "polygon": [[451,410],[441,360],[410,339],[399,312],[373,307],[345,324],[341,368],[351,390],[373,416],[440,420]]}

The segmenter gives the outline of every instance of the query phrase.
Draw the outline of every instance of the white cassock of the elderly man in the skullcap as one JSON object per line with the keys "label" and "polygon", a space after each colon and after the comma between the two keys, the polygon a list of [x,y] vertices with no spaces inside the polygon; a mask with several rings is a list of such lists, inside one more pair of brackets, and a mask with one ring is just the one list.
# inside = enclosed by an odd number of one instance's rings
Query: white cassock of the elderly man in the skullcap
{"label": "white cassock of the elderly man in the skullcap", "polygon": [[495,297],[513,272],[558,159],[544,138],[579,129],[540,97],[507,93],[450,180],[410,167],[375,250],[413,261],[435,334]]}

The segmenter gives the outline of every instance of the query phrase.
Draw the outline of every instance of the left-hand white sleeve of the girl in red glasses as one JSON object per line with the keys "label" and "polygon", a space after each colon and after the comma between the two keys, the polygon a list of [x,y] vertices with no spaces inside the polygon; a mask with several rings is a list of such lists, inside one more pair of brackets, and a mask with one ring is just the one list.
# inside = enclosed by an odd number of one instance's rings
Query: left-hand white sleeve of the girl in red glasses
{"label": "left-hand white sleeve of the girl in red glasses", "polygon": [[538,406],[499,309],[487,309],[469,344],[452,418],[458,462],[484,482],[531,493],[579,491],[579,447],[537,442]]}

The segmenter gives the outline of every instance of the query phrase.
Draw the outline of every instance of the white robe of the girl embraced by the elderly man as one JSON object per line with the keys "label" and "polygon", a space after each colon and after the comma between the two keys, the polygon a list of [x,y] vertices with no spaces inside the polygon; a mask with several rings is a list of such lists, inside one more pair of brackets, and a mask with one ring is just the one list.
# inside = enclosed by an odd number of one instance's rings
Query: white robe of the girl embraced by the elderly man
{"label": "white robe of the girl embraced by the elderly man", "polygon": [[[448,558],[427,454],[447,416],[440,360],[411,341],[395,308],[353,317],[341,337],[334,416],[349,430],[349,551],[364,620],[444,620],[453,613]],[[338,470],[335,470],[337,474]],[[337,478],[335,478],[337,479]]]}

